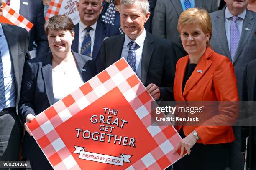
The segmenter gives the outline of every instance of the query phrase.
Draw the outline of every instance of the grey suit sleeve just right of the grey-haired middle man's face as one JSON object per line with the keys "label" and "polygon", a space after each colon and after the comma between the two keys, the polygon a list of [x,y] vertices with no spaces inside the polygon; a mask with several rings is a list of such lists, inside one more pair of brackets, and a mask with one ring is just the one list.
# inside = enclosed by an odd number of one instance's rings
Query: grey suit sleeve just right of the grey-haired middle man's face
{"label": "grey suit sleeve just right of the grey-haired middle man's face", "polygon": [[154,11],[152,21],[152,33],[154,35],[166,38],[166,11],[164,7],[164,0],[156,1],[156,7]]}

